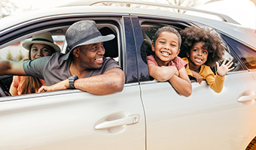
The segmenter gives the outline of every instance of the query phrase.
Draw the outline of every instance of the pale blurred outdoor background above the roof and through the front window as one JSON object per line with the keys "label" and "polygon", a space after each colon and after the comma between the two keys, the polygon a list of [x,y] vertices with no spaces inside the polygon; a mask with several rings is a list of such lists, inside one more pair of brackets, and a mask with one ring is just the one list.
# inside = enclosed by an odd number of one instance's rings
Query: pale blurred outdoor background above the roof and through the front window
{"label": "pale blurred outdoor background above the roof and through the front window", "polygon": [[[88,0],[77,0],[88,1]],[[8,17],[12,14],[29,12],[38,9],[47,9],[50,7],[60,7],[63,5],[72,4],[77,2],[75,0],[1,0],[0,1],[0,21],[4,17]],[[130,1],[130,0],[127,0]],[[149,1],[157,2],[168,5],[179,5],[183,7],[195,7],[201,10],[208,10],[215,13],[223,13],[233,20],[240,23],[242,26],[254,29],[256,33],[256,0],[133,0],[133,1]],[[101,3],[99,5],[113,5],[118,7],[146,7],[141,5],[130,4],[112,4]],[[159,7],[148,7],[150,9],[161,9]],[[167,9],[169,11],[176,11],[177,13],[187,13],[196,16],[206,17],[205,13],[192,13],[184,10]],[[207,18],[219,20],[218,17],[208,15]],[[214,18],[215,17],[215,18]],[[30,39],[27,39],[30,40]],[[53,40],[59,47],[62,47],[62,43],[65,40],[64,36],[53,36]],[[20,41],[1,49],[2,55],[0,59],[8,59],[14,61],[20,61],[27,58],[28,50],[24,49]],[[17,49],[20,49],[17,52]]]}

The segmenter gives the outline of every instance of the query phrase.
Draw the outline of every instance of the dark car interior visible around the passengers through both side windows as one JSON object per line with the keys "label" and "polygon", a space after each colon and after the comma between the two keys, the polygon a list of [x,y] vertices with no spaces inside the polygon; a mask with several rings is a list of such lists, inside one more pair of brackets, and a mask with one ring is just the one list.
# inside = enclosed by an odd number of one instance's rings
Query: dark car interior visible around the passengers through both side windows
{"label": "dark car interior visible around the passengers through both side windows", "polygon": [[[172,26],[173,28],[177,29],[178,31],[180,31],[181,29],[186,28],[187,26],[191,26],[190,24],[187,23],[181,23],[181,22],[173,22],[173,23],[151,23],[151,22],[145,22],[142,23],[142,34],[144,37],[144,41],[142,43],[141,46],[141,55],[142,55],[142,60],[148,64],[147,61],[147,56],[148,55],[153,55],[154,52],[152,52],[151,50],[151,42],[154,39],[154,33],[157,31],[158,28],[162,27],[162,26]],[[119,62],[119,49],[118,49],[118,44],[119,41],[117,40],[117,36],[118,36],[118,30],[116,28],[116,26],[112,25],[112,24],[106,24],[106,23],[97,23],[97,27],[99,28],[99,31],[102,33],[102,35],[107,35],[107,34],[114,34],[114,40],[110,40],[104,43],[104,47],[105,47],[105,57],[110,57],[110,58],[114,58],[117,62]],[[69,26],[60,26],[58,28],[51,28],[50,32],[52,35],[61,35],[64,37],[67,28],[69,28]],[[38,33],[38,32],[37,32]],[[35,33],[34,33],[35,34]],[[62,52],[66,53],[68,52],[68,47],[67,47],[67,43],[66,40],[64,39],[62,41]],[[230,52],[230,48],[229,46],[227,46],[227,44],[224,43],[224,46],[226,47],[226,51],[224,53],[224,58],[228,58],[228,60],[232,60],[234,62],[233,66],[236,67],[233,71],[239,71],[242,70],[242,67],[239,63],[239,61],[234,58],[231,55]],[[110,50],[111,49],[111,50]],[[182,53],[180,52],[180,54],[178,55],[181,58],[183,57]],[[120,63],[120,62],[119,62]],[[221,62],[220,62],[221,63]],[[216,67],[212,68],[212,71],[215,73],[217,70]],[[151,78],[151,80],[154,80],[153,78]],[[191,82],[194,82],[194,79],[191,79]],[[0,96],[8,96],[10,95],[9,93],[9,89],[12,83],[12,76],[11,75],[5,75],[5,76],[1,76],[0,77],[0,86],[2,88],[3,92],[0,92]]]}

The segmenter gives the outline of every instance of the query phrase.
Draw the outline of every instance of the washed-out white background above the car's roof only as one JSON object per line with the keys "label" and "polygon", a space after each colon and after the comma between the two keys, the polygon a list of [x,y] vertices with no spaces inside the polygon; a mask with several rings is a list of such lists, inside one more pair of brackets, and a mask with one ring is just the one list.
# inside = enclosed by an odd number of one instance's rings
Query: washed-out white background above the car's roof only
{"label": "washed-out white background above the car's roof only", "polygon": [[[58,7],[72,3],[74,0],[1,0],[0,18],[14,13],[44,9],[47,7]],[[83,1],[83,0],[80,0]],[[87,0],[84,0],[87,1]],[[136,0],[135,0],[136,1]],[[242,26],[256,29],[256,0],[139,0],[151,1],[169,5],[180,5],[185,7],[196,7],[215,13],[224,13]],[[103,3],[102,5],[113,5]],[[140,7],[138,5],[123,5],[124,7]],[[178,13],[187,13],[184,11]]]}

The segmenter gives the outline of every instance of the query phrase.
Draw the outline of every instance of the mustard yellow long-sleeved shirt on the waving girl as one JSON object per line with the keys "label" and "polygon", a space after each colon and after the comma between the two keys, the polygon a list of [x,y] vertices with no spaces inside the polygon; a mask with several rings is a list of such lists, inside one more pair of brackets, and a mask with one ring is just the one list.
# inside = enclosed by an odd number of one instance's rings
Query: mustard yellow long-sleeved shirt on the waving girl
{"label": "mustard yellow long-sleeved shirt on the waving girl", "polygon": [[[185,62],[187,62],[187,74],[191,77],[193,77],[192,72],[189,69],[188,60],[187,58],[182,58]],[[213,74],[211,68],[206,65],[201,65],[200,76],[203,77],[203,80],[206,80],[207,84],[211,87],[213,91],[216,93],[220,93],[223,89],[224,80],[225,77],[219,77],[218,74],[215,77],[215,74]]]}

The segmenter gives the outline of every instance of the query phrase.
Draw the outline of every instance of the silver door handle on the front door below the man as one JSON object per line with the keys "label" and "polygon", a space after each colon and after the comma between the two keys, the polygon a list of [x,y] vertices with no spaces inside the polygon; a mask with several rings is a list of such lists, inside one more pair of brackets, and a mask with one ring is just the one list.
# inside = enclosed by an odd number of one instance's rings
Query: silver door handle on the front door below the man
{"label": "silver door handle on the front door below the man", "polygon": [[139,115],[130,115],[126,118],[119,118],[117,120],[112,120],[112,121],[104,121],[100,124],[97,124],[94,128],[96,130],[105,130],[111,127],[117,127],[120,125],[130,125],[130,124],[136,124],[139,122]]}

